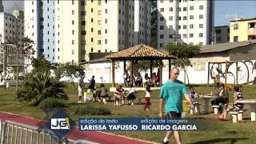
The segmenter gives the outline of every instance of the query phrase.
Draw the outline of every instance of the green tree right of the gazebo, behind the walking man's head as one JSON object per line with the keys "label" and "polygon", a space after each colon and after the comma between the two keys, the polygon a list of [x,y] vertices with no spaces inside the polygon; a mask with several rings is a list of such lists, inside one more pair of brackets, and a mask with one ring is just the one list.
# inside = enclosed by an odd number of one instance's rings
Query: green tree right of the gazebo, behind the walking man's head
{"label": "green tree right of the gazebo, behind the walking man's head", "polygon": [[200,47],[194,45],[186,45],[182,43],[178,43],[175,45],[174,43],[169,43],[165,50],[169,52],[170,55],[174,55],[177,59],[172,60],[172,64],[174,66],[180,67],[184,70],[184,82],[186,82],[186,77],[188,83],[190,83],[188,74],[186,73],[186,66],[190,66],[190,59],[193,58],[195,55],[199,54]]}

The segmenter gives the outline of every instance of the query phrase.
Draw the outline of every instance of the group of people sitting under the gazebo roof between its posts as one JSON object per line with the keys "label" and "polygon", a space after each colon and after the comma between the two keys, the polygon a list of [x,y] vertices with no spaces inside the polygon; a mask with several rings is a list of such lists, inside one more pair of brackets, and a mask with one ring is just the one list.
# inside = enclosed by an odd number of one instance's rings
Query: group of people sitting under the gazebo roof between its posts
{"label": "group of people sitting under the gazebo roof between its posts", "polygon": [[[124,78],[124,84],[125,86],[130,86],[130,75],[128,74],[128,71],[125,70],[122,77]],[[136,75],[133,75],[132,83],[134,83],[134,86],[142,86],[143,78],[142,74],[138,73]],[[159,69],[157,73],[153,73],[153,77],[150,78],[149,74],[145,74],[144,77],[144,83],[145,86],[158,86],[159,85]]]}

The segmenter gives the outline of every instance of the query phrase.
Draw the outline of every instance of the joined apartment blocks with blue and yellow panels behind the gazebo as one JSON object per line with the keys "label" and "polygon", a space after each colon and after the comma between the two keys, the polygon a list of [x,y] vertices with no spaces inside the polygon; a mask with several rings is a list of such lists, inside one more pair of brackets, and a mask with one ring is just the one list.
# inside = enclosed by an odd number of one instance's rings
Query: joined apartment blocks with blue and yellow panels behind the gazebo
{"label": "joined apartment blocks with blue and yellow panels behind the gazebo", "polygon": [[25,16],[25,34],[34,40],[36,56],[50,62],[83,62],[90,53],[150,43],[147,0],[32,0],[25,1]]}

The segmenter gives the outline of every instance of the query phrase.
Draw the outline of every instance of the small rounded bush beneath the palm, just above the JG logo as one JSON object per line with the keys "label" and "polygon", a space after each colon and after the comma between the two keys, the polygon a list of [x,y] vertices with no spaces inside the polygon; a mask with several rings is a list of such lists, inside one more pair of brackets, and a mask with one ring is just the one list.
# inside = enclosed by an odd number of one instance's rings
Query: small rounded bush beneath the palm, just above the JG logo
{"label": "small rounded bush beneath the palm, just above the JG logo", "polygon": [[43,108],[56,108],[56,107],[64,107],[64,103],[59,98],[46,98],[42,102],[40,102],[39,107]]}

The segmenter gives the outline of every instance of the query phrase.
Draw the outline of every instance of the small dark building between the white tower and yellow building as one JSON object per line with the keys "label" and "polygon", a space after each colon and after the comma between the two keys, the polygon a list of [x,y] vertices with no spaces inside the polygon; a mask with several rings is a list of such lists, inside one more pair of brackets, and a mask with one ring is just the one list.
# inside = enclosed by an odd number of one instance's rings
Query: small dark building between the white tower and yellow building
{"label": "small dark building between the white tower and yellow building", "polygon": [[230,26],[214,26],[214,44],[230,42]]}

